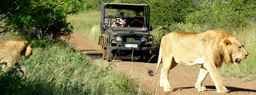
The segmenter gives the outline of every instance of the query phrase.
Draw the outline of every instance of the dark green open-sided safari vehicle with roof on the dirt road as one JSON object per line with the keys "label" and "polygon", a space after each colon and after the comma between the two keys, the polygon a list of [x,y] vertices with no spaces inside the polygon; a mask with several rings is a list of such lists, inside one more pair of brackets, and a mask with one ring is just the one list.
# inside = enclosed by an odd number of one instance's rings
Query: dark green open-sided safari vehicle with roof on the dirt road
{"label": "dark green open-sided safari vehicle with roof on the dirt road", "polygon": [[[135,11],[140,11],[144,19],[143,27],[133,27],[131,22]],[[116,12],[116,13],[115,13]],[[113,26],[119,12],[124,12],[127,20],[125,27]],[[130,16],[126,16],[130,15]],[[138,16],[136,16],[138,17]],[[101,6],[101,36],[102,59],[111,61],[113,56],[127,59],[131,56],[141,61],[148,61],[153,50],[153,36],[149,34],[149,6],[147,4],[105,3]],[[136,57],[135,57],[136,56]]]}

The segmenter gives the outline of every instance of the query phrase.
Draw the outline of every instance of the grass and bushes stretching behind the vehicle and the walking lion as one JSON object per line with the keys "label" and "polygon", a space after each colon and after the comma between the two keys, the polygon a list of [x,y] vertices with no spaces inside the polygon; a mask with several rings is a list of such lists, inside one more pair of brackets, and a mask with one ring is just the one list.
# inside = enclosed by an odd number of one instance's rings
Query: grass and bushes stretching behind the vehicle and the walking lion
{"label": "grass and bushes stretching behind the vehicle and the walking lion", "polygon": [[[100,1],[88,0],[90,9],[92,9],[90,12],[80,12],[67,18],[74,25],[76,31],[89,35],[96,42],[100,33],[99,16],[100,5],[102,4]],[[201,33],[208,30],[229,30],[241,42],[244,42],[249,56],[239,66],[232,63],[224,64],[218,69],[220,74],[228,77],[246,78],[248,81],[256,80],[256,2],[253,0],[201,0],[193,2],[190,0],[104,1],[104,3],[149,4],[151,7],[150,24],[153,26],[151,34],[154,36],[154,54],[158,54],[162,36],[171,31]],[[79,19],[82,22],[77,22],[73,19],[81,17],[84,18]],[[86,23],[86,25],[82,26],[82,23]],[[96,26],[98,28],[94,30]]]}

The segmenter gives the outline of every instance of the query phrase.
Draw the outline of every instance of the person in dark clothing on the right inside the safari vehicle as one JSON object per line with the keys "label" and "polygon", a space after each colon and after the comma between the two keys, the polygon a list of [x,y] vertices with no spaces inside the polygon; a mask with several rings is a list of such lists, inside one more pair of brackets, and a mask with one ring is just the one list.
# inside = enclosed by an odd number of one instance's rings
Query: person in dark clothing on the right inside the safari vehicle
{"label": "person in dark clothing on the right inside the safari vehicle", "polygon": [[131,21],[132,27],[144,27],[144,17],[140,15],[140,11],[135,11],[135,17]]}

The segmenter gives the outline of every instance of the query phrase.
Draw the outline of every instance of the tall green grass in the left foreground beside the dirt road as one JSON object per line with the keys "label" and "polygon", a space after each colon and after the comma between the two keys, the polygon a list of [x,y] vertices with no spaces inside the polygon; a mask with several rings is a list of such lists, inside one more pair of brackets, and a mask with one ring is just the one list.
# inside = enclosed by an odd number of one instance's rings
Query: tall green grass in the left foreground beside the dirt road
{"label": "tall green grass in the left foreground beside the dirt road", "polygon": [[116,67],[90,62],[66,44],[54,43],[34,49],[29,59],[19,62],[30,73],[16,69],[0,72],[1,95],[145,95],[127,75],[113,73]]}

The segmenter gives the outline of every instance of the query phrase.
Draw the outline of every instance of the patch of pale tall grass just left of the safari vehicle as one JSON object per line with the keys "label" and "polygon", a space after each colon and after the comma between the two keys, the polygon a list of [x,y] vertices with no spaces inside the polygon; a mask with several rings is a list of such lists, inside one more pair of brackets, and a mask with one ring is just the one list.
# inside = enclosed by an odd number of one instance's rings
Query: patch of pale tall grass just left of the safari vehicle
{"label": "patch of pale tall grass just left of the safari vehicle", "polygon": [[83,33],[85,36],[98,41],[101,35],[100,31],[100,11],[92,10],[90,12],[81,11],[78,14],[69,15],[67,21],[74,26],[75,31]]}

